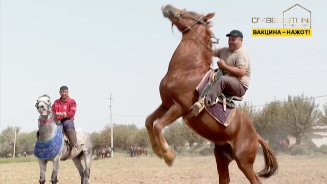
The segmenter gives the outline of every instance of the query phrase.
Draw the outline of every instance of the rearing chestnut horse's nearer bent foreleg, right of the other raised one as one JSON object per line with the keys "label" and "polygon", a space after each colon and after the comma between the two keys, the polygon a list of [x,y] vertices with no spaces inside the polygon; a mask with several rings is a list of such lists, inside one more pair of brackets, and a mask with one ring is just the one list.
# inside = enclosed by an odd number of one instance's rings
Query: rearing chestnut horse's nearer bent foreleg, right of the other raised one
{"label": "rearing chestnut horse's nearer bent foreleg, right of the other raised one", "polygon": [[162,116],[153,127],[153,133],[158,139],[159,146],[164,156],[165,162],[168,166],[172,166],[174,162],[174,152],[169,148],[168,143],[162,135],[162,129],[173,123],[177,118],[182,115],[182,109],[177,105],[173,105],[169,110]]}

